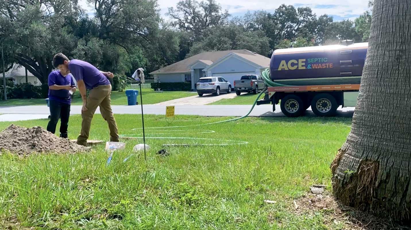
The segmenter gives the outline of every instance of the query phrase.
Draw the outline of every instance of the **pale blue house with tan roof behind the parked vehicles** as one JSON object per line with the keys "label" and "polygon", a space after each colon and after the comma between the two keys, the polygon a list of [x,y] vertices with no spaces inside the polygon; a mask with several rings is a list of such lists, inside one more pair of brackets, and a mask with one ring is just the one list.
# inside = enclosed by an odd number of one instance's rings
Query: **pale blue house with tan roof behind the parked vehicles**
{"label": "pale blue house with tan roof behind the parked vehicles", "polygon": [[203,52],[166,66],[150,74],[161,82],[191,82],[192,89],[200,77],[224,77],[231,83],[244,74],[258,74],[270,66],[270,58],[240,49]]}

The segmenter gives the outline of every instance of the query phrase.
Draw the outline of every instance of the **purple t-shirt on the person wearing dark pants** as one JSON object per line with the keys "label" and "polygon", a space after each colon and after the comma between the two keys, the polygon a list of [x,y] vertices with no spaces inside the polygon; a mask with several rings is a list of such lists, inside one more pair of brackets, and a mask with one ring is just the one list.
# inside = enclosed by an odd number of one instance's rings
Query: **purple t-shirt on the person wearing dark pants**
{"label": "purple t-shirt on the person wearing dark pants", "polygon": [[[74,84],[73,76],[71,74],[64,77],[63,75],[60,74],[60,71],[57,71],[57,70],[51,71],[51,73],[48,74],[48,86],[54,86],[54,85],[76,86],[76,84]],[[72,102],[72,98],[67,89],[59,89],[59,90],[48,89],[48,99],[62,102],[62,103],[69,104],[69,105]]]}

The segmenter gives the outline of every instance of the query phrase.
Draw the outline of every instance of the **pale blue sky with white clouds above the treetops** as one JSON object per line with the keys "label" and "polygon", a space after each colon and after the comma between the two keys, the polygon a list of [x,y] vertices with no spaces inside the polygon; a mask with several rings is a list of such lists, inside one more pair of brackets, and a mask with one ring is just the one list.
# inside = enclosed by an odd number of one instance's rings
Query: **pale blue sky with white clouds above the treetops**
{"label": "pale blue sky with white clouds above the treetops", "polygon": [[[175,7],[179,0],[158,0],[163,18],[168,7]],[[201,1],[201,0],[199,0]],[[279,5],[293,5],[295,7],[311,7],[317,16],[328,14],[335,21],[355,19],[368,9],[368,0],[216,0],[223,9],[227,9],[232,16],[242,16],[247,10],[256,11],[264,9],[274,12]],[[79,0],[83,8],[87,9],[86,0]],[[313,3],[315,2],[315,3]]]}

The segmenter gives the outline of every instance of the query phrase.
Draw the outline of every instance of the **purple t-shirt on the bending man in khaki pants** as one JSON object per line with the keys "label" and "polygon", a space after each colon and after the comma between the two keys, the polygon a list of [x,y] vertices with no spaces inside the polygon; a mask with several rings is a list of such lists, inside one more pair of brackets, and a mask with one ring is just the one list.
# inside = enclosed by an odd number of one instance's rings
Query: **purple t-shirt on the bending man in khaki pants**
{"label": "purple t-shirt on the bending man in khaki pants", "polygon": [[73,59],[69,61],[69,70],[76,81],[83,80],[85,88],[92,89],[101,85],[109,85],[110,81],[100,70],[88,62]]}

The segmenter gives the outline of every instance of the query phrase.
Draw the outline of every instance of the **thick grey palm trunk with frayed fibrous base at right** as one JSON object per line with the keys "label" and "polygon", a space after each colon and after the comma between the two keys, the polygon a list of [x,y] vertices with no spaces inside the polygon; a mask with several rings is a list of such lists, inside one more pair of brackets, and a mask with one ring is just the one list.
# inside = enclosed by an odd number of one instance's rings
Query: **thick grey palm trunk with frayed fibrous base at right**
{"label": "thick grey palm trunk with frayed fibrous base at right", "polygon": [[352,128],[330,168],[335,197],[410,220],[411,2],[376,0]]}

